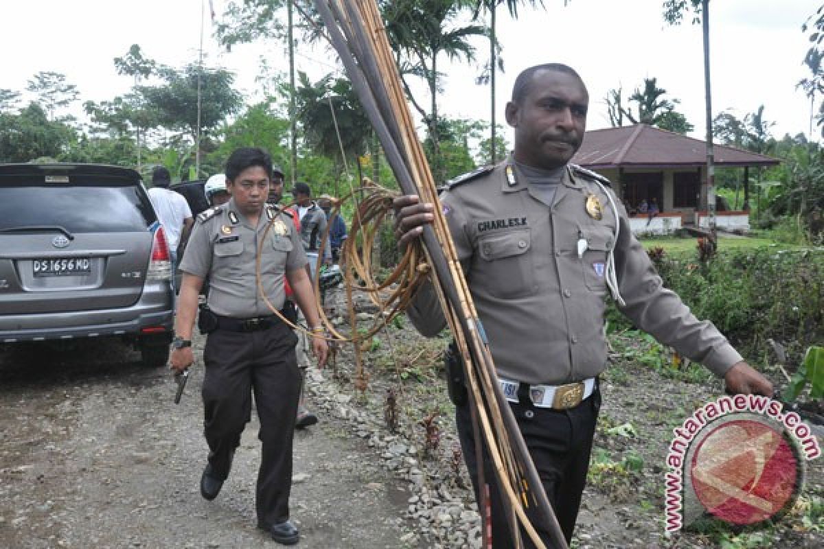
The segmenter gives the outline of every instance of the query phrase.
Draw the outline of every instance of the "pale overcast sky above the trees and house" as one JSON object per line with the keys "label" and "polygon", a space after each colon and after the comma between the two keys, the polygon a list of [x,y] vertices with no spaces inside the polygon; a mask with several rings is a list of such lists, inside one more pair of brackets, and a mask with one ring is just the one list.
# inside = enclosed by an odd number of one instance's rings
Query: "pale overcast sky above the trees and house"
{"label": "pale overcast sky above the trees and house", "polygon": [[[286,70],[282,44],[251,44],[222,51],[205,12],[207,63],[236,72],[237,85],[252,97],[261,57]],[[227,3],[213,0],[218,16]],[[590,92],[588,128],[606,128],[603,98],[623,86],[625,95],[658,77],[667,97],[704,135],[704,77],[700,26],[666,26],[662,0],[545,0],[547,9],[522,9],[513,21],[499,12],[499,40],[505,73],[499,77],[499,121],[517,72],[536,63],[561,62],[576,68]],[[795,85],[808,77],[802,60],[809,43],[801,25],[818,0],[713,0],[710,2],[710,49],[714,114],[732,110],[743,117],[765,105],[773,133],[807,133],[809,102]],[[159,63],[181,66],[197,58],[201,0],[26,0],[2,1],[0,88],[22,91],[39,71],[63,72],[77,86],[81,100],[108,100],[128,91],[129,77],[115,72],[112,59],[131,44]],[[488,46],[478,41],[478,60],[446,67],[442,113],[489,119],[489,88],[476,86]],[[334,70],[334,54],[301,48],[298,68],[313,77]],[[424,88],[420,88],[421,91]],[[428,99],[424,100],[428,102]],[[817,133],[817,130],[814,130]]]}

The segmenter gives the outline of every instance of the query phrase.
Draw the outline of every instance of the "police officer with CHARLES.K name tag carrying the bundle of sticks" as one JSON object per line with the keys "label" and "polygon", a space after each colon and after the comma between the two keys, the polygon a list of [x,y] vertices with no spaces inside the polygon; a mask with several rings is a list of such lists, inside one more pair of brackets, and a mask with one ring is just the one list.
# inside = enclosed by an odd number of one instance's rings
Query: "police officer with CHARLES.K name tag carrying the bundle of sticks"
{"label": "police officer with CHARLES.K name tag carrying the bundle of sticks", "polygon": [[[662,287],[609,182],[569,164],[583,139],[588,103],[572,68],[528,68],[506,107],[512,155],[453,180],[441,195],[503,393],[568,542],[601,403],[597,377],[606,368],[607,295],[639,328],[723,377],[728,391],[772,395],[770,382],[712,323],[695,319]],[[432,221],[433,205],[401,197],[395,207],[403,247]],[[446,324],[431,285],[415,295],[408,312],[424,335]],[[458,434],[477,494],[470,409],[456,400]],[[491,469],[486,478],[494,478]],[[510,547],[501,497],[497,486],[490,489],[494,547]]]}

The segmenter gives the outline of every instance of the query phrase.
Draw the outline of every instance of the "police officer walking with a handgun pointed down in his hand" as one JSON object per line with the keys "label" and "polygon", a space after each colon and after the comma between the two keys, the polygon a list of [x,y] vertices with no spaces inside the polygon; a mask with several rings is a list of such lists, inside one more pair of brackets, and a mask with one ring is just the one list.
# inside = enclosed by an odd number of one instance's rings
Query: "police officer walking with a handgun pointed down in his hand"
{"label": "police officer walking with a handgun pointed down in his hand", "polygon": [[207,500],[217,497],[232,468],[254,393],[262,443],[255,505],[258,526],[275,541],[292,545],[299,538],[289,521],[292,442],[301,388],[297,336],[258,293],[259,248],[261,280],[271,305],[283,307],[287,279],[315,334],[312,351],[321,366],[328,349],[300,237],[291,219],[266,204],[271,177],[272,160],[262,149],[240,148],[229,156],[226,184],[232,199],[198,216],[180,265],[184,275],[171,367],[182,371],[194,362],[190,340],[198,293],[208,277],[208,310],[200,313],[199,327],[208,333],[203,399],[209,454],[200,491]]}

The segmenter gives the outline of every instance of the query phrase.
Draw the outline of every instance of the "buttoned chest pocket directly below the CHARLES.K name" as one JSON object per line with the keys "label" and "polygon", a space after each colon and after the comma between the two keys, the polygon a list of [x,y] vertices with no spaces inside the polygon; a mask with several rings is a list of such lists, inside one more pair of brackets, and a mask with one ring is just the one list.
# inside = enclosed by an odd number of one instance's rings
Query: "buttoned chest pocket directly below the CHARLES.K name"
{"label": "buttoned chest pocket directly below the CHARLES.K name", "polygon": [[478,240],[480,260],[473,269],[473,285],[503,299],[534,294],[537,286],[533,253],[529,229],[484,236]]}

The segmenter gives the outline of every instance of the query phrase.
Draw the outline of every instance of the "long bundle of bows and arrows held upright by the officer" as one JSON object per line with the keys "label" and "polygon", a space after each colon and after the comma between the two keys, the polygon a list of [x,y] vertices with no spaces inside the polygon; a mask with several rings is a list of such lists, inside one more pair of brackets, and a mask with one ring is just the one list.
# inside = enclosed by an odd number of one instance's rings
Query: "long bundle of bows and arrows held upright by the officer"
{"label": "long bundle of bows and arrows held upright by the officer", "polygon": [[[400,76],[380,12],[374,0],[314,0],[328,30],[330,41],[344,63],[349,80],[380,138],[400,188],[422,202],[436,205],[433,226],[425,226],[424,248],[433,268],[433,282],[442,309],[455,335],[471,395],[475,441],[481,437],[494,463],[494,481],[503,494],[510,531],[516,547],[522,547],[522,528],[536,547],[545,547],[527,517],[532,514],[542,530],[550,533],[551,547],[567,547],[555,514],[546,499],[541,480],[531,461],[513,413],[495,375],[484,328],[473,305],[469,287],[442,214],[432,173],[414,130]],[[480,450],[480,447],[478,448]],[[482,453],[477,451],[480,456]],[[480,486],[484,468],[479,463]],[[484,515],[484,489],[481,488]],[[486,524],[485,524],[486,526]],[[520,528],[519,528],[520,527]],[[484,528],[487,533],[489,528]],[[489,537],[485,539],[489,547]]]}

